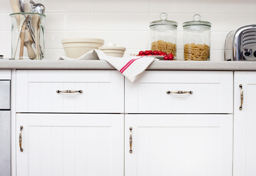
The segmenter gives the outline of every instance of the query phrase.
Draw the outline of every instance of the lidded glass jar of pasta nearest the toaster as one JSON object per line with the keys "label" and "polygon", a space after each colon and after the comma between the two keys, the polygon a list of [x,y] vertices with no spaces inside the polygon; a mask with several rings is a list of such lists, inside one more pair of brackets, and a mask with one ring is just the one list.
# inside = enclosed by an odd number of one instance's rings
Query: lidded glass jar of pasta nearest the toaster
{"label": "lidded glass jar of pasta nearest the toaster", "polygon": [[196,14],[183,26],[184,60],[210,61],[211,23],[201,21]]}

